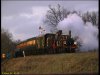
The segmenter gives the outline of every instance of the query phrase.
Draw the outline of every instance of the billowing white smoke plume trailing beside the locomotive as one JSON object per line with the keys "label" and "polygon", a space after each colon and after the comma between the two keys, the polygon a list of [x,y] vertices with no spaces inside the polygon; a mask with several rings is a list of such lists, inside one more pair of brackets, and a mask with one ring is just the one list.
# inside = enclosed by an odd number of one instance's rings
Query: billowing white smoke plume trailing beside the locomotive
{"label": "billowing white smoke plume trailing beside the locomotive", "polygon": [[98,49],[98,28],[90,22],[84,24],[82,18],[77,14],[68,15],[67,18],[59,22],[57,28],[67,35],[71,30],[73,38],[78,36],[77,41],[82,41],[81,50]]}

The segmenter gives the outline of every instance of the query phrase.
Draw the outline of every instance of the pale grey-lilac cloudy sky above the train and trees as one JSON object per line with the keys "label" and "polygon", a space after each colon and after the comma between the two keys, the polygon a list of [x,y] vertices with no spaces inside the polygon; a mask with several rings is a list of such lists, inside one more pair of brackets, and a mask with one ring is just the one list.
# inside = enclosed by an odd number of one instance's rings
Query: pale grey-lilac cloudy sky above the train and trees
{"label": "pale grey-lilac cloudy sky above the train and trees", "polygon": [[97,0],[66,0],[66,1],[1,1],[1,27],[8,29],[14,40],[26,40],[40,35],[39,26],[49,32],[47,25],[43,23],[48,5],[62,7],[72,11],[81,12],[98,11]]}

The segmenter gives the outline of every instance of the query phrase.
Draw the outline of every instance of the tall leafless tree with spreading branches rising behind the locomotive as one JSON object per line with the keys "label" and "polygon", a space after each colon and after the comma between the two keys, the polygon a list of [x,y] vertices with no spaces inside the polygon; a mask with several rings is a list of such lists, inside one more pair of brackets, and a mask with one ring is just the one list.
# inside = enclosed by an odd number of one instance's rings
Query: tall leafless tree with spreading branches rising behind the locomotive
{"label": "tall leafless tree with spreading branches rising behind the locomotive", "polygon": [[53,27],[53,30],[57,30],[57,25],[60,21],[62,21],[64,18],[67,17],[67,15],[70,13],[70,11],[67,11],[65,8],[61,7],[59,4],[57,5],[56,8],[51,7],[49,5],[49,10],[47,11],[46,14],[46,19],[45,23],[51,27]]}

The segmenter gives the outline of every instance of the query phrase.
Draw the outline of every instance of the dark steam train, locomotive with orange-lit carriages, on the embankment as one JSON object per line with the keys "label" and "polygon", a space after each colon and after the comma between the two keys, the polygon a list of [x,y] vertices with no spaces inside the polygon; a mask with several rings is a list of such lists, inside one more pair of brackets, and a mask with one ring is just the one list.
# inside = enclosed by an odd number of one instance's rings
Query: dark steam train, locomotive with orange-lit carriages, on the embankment
{"label": "dark steam train, locomotive with orange-lit carriages, on the embankment", "polygon": [[71,38],[71,31],[69,35],[62,35],[62,30],[59,30],[56,34],[47,33],[19,43],[16,46],[16,56],[23,56],[23,51],[25,56],[75,52],[77,45],[74,42],[75,40]]}

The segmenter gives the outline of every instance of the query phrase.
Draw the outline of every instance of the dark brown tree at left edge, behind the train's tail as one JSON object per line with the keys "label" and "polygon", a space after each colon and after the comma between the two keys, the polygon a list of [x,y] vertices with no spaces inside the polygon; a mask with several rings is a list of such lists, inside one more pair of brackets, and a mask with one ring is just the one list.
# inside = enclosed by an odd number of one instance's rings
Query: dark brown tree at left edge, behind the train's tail
{"label": "dark brown tree at left edge, behind the train's tail", "polygon": [[12,41],[12,34],[8,30],[1,28],[1,53],[14,50],[15,42]]}

